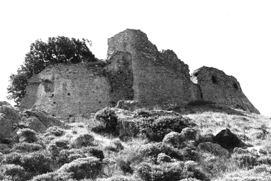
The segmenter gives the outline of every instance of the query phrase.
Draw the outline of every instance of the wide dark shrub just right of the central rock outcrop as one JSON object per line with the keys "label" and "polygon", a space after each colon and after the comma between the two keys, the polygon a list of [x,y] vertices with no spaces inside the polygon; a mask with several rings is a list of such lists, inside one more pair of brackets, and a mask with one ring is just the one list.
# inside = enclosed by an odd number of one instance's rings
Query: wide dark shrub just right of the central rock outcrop
{"label": "wide dark shrub just right of the central rock outcrop", "polygon": [[162,141],[172,131],[180,133],[188,123],[181,116],[161,116],[135,119],[135,128],[150,141]]}

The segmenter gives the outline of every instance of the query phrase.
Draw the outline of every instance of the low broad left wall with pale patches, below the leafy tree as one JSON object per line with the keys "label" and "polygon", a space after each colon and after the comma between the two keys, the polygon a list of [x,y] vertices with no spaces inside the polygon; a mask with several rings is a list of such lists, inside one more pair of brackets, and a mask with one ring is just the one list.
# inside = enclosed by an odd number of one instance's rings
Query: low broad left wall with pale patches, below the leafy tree
{"label": "low broad left wall with pale patches, below the leafy tree", "polygon": [[110,106],[111,84],[102,67],[56,64],[29,80],[22,107],[36,106],[54,116],[88,116]]}

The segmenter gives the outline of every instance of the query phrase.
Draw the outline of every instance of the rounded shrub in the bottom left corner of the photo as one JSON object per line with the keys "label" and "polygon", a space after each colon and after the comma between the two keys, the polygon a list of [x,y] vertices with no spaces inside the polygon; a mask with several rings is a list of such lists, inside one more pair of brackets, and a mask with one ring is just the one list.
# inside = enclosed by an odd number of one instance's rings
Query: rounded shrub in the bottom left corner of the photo
{"label": "rounded shrub in the bottom left corner of the photo", "polygon": [[22,180],[25,174],[23,167],[14,164],[2,165],[0,172],[6,176],[11,176],[12,180]]}

